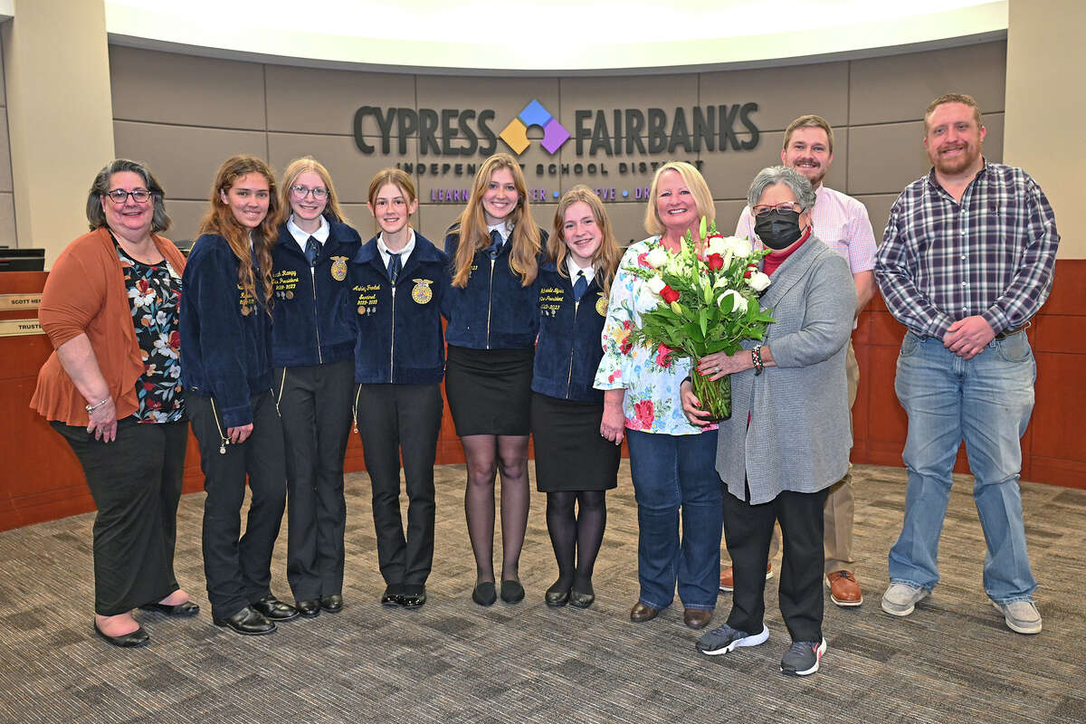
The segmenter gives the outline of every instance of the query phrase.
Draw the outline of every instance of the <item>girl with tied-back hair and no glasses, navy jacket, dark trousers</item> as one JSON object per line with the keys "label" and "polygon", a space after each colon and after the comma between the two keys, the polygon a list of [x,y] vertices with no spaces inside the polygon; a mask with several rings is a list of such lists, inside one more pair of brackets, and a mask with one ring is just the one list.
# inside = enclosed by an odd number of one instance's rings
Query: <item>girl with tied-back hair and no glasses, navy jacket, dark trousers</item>
{"label": "girl with tied-back hair and no glasses, navy jacket, dark trousers", "polygon": [[[384,606],[418,608],[433,562],[433,462],[441,430],[445,340],[441,306],[449,257],[412,229],[415,185],[396,168],[369,183],[380,228],[351,261],[355,320],[354,416],[374,493]],[[400,456],[407,482],[407,535],[400,518]]]}

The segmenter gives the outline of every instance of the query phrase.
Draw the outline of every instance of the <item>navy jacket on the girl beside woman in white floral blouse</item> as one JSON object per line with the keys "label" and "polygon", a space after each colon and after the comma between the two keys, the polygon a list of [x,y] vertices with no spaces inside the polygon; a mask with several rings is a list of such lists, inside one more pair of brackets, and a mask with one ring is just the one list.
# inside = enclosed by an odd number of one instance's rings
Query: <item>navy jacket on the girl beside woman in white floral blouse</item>
{"label": "navy jacket on the girl beside woman in white floral blouse", "polygon": [[604,350],[599,336],[607,316],[607,297],[595,278],[573,301],[572,280],[545,262],[539,276],[540,334],[535,346],[532,390],[548,397],[603,403],[602,390],[592,381]]}

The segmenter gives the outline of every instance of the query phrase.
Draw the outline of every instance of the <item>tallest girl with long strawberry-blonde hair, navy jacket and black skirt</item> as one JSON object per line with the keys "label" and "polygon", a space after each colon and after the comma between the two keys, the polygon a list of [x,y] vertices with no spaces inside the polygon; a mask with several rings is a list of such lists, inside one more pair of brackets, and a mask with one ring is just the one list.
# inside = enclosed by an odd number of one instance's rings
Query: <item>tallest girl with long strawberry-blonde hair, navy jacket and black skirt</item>
{"label": "tallest girl with long strawberry-blonde hair, navy jacket and black skirt", "polygon": [[445,236],[452,287],[445,300],[445,394],[468,468],[465,511],[475,551],[471,598],[494,587],[494,475],[502,471],[502,600],[525,597],[520,549],[528,524],[532,353],[539,329],[535,277],[546,232],[532,220],[516,158],[482,163],[459,219]]}

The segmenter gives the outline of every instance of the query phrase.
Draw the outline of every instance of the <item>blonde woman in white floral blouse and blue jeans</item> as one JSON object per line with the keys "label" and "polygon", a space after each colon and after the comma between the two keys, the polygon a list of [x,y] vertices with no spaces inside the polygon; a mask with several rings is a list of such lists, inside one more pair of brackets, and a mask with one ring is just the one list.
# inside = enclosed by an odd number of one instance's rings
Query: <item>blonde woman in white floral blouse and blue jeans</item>
{"label": "blonde woman in white floral blouse and blue jeans", "polygon": [[662,267],[681,252],[689,232],[698,232],[700,219],[714,216],[712,195],[698,170],[682,162],[662,165],[645,212],[645,230],[653,236],[630,245],[611,283],[595,388],[605,391],[601,433],[619,444],[624,429],[630,443],[641,586],[630,611],[634,623],[670,606],[677,583],[687,626],[705,627],[717,605],[722,525],[712,467],[717,432],[692,424],[679,404],[690,359],[666,345],[633,342],[642,316],[661,299],[674,301],[668,299],[673,290],[654,291],[637,270]]}

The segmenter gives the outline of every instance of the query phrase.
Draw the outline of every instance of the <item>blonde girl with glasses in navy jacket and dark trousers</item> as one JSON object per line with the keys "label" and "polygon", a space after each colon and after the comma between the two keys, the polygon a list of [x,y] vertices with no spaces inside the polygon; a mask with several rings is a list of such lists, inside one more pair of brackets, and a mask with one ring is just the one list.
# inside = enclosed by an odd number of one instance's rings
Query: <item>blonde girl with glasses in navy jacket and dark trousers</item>
{"label": "blonde girl with glasses in navy jacket and dark trousers", "polygon": [[351,433],[354,326],[348,262],[362,239],[328,169],[287,167],[272,250],[272,364],[287,449],[287,580],[306,618],[343,608],[343,456]]}

